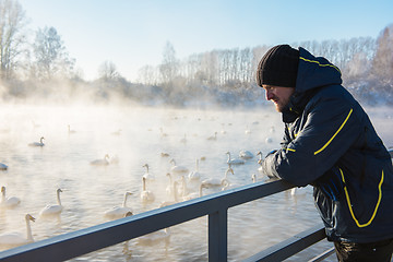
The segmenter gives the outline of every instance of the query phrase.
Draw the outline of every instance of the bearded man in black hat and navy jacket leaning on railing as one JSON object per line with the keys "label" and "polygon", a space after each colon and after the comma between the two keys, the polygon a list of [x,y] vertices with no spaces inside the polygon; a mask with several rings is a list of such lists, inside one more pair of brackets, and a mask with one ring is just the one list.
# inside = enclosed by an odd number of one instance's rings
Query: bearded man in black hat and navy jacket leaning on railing
{"label": "bearded man in black hat and navy jacket leaning on railing", "polygon": [[361,106],[325,58],[288,45],[271,48],[258,85],[285,123],[282,148],[263,162],[270,177],[312,184],[315,206],[340,261],[391,261],[391,156]]}

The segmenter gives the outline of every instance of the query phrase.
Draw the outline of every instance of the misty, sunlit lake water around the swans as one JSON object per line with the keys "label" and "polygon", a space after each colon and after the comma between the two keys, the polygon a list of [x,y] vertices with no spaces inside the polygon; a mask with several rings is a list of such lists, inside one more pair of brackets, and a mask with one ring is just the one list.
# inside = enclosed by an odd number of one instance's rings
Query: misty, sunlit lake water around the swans
{"label": "misty, sunlit lake water around the swans", "polygon": [[[21,199],[16,207],[0,210],[0,234],[16,230],[25,235],[24,216],[28,213],[36,217],[31,224],[36,241],[107,222],[104,213],[120,206],[127,191],[132,193],[127,204],[134,214],[157,209],[160,202],[172,199],[166,192],[171,158],[190,171],[199,159],[201,179],[223,178],[228,167],[226,152],[238,158],[239,152],[247,150],[253,158],[233,166],[235,174],[228,179],[246,184],[255,174],[259,181],[266,181],[258,171],[257,152],[265,155],[278,147],[283,134],[281,115],[272,105],[247,110],[36,105],[0,108],[0,163],[9,166],[0,171],[0,186],[7,188],[8,196]],[[393,110],[369,108],[368,112],[385,145],[392,146]],[[216,140],[207,140],[215,132]],[[41,136],[45,146],[28,146]],[[110,165],[91,165],[106,154],[112,160]],[[155,201],[146,205],[140,199],[144,164],[155,176],[154,182],[147,182]],[[194,183],[188,187],[198,191]],[[60,217],[40,217],[46,204],[56,203],[58,188],[62,190]],[[203,194],[217,191],[204,189]],[[298,189],[295,195],[286,191],[233,207],[228,211],[228,260],[246,259],[319,223],[310,187]],[[163,241],[133,239],[74,261],[207,260],[207,217],[170,227],[169,233]],[[322,241],[288,261],[308,260],[330,247],[332,243]],[[335,261],[334,255],[326,261]]]}

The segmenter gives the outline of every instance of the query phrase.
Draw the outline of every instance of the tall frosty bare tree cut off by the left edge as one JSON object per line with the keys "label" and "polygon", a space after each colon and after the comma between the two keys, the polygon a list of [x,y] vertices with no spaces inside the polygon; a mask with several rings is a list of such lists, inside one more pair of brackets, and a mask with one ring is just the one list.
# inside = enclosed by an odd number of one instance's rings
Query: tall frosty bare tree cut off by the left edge
{"label": "tall frosty bare tree cut off by the left edge", "polygon": [[24,51],[24,26],[27,20],[15,0],[0,0],[0,78],[9,79],[17,67],[16,58]]}

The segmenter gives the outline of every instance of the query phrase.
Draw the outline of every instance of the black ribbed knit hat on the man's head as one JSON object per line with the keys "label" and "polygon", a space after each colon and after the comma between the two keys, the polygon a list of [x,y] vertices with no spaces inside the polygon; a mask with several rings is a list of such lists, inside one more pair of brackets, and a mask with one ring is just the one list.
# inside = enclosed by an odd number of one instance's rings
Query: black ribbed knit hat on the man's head
{"label": "black ribbed knit hat on the man's head", "polygon": [[261,59],[257,84],[295,87],[299,66],[299,50],[289,45],[272,47]]}

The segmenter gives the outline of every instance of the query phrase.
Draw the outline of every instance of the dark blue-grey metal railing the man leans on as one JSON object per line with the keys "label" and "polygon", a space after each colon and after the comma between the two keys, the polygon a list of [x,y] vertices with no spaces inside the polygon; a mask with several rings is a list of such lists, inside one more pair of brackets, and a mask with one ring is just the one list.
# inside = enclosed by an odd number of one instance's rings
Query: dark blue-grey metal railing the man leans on
{"label": "dark blue-grey metal railing the man leans on", "polygon": [[[250,183],[9,249],[0,252],[0,260],[64,261],[207,215],[209,260],[227,261],[228,209],[293,187],[284,180]],[[283,260],[324,238],[322,226],[317,226],[247,261]]]}

